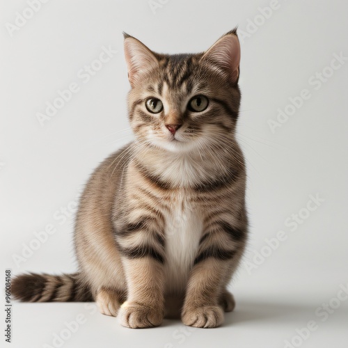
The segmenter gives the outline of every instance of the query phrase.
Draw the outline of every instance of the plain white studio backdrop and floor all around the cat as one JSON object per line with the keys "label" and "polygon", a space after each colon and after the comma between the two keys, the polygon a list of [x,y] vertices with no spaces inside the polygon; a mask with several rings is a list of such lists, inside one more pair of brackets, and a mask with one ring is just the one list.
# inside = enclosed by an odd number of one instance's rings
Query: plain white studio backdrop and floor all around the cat
{"label": "plain white studio backdrop and floor all around the cat", "polygon": [[239,26],[251,221],[237,308],[221,328],[132,331],[91,305],[14,303],[12,347],[347,347],[347,10],[338,0],[1,1],[2,285],[5,269],[76,270],[79,192],[132,140],[122,31],[179,53]]}

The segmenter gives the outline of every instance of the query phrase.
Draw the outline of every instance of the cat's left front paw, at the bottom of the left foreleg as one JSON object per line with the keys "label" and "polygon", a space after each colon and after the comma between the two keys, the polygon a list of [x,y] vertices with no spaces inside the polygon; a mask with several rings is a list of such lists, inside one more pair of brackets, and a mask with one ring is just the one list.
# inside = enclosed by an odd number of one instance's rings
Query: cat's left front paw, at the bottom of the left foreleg
{"label": "cat's left front paw, at the bottom of the left foreleg", "polygon": [[141,303],[125,302],[120,308],[120,324],[131,329],[159,326],[164,317],[163,310],[151,308]]}

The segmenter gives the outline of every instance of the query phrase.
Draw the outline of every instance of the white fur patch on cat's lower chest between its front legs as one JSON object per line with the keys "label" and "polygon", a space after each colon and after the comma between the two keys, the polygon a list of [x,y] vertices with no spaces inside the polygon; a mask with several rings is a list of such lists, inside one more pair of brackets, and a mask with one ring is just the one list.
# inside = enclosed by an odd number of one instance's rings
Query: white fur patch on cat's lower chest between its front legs
{"label": "white fur patch on cat's lower chest between its front legs", "polygon": [[187,285],[203,223],[184,193],[175,198],[172,207],[172,211],[166,215],[166,290],[181,292]]}

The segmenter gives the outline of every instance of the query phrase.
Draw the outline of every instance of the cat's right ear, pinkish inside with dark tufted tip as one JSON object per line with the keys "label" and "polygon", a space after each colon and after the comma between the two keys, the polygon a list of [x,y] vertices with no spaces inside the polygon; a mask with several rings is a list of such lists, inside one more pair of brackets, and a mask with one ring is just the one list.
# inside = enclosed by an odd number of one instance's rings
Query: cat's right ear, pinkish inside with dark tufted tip
{"label": "cat's right ear, pinkish inside with dark tufted tip", "polygon": [[223,35],[217,40],[201,60],[206,60],[223,70],[230,77],[230,81],[237,84],[239,78],[240,45],[237,29]]}

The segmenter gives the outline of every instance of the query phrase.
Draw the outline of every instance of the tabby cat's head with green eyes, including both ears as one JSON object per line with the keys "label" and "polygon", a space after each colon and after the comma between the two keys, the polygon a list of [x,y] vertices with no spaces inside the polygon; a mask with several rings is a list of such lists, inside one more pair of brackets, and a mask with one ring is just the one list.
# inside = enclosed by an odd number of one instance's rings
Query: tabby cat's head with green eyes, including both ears
{"label": "tabby cat's head with green eyes, including both ears", "polygon": [[237,121],[236,30],[198,54],[157,54],[125,34],[129,120],[137,139],[171,151],[228,141]]}

